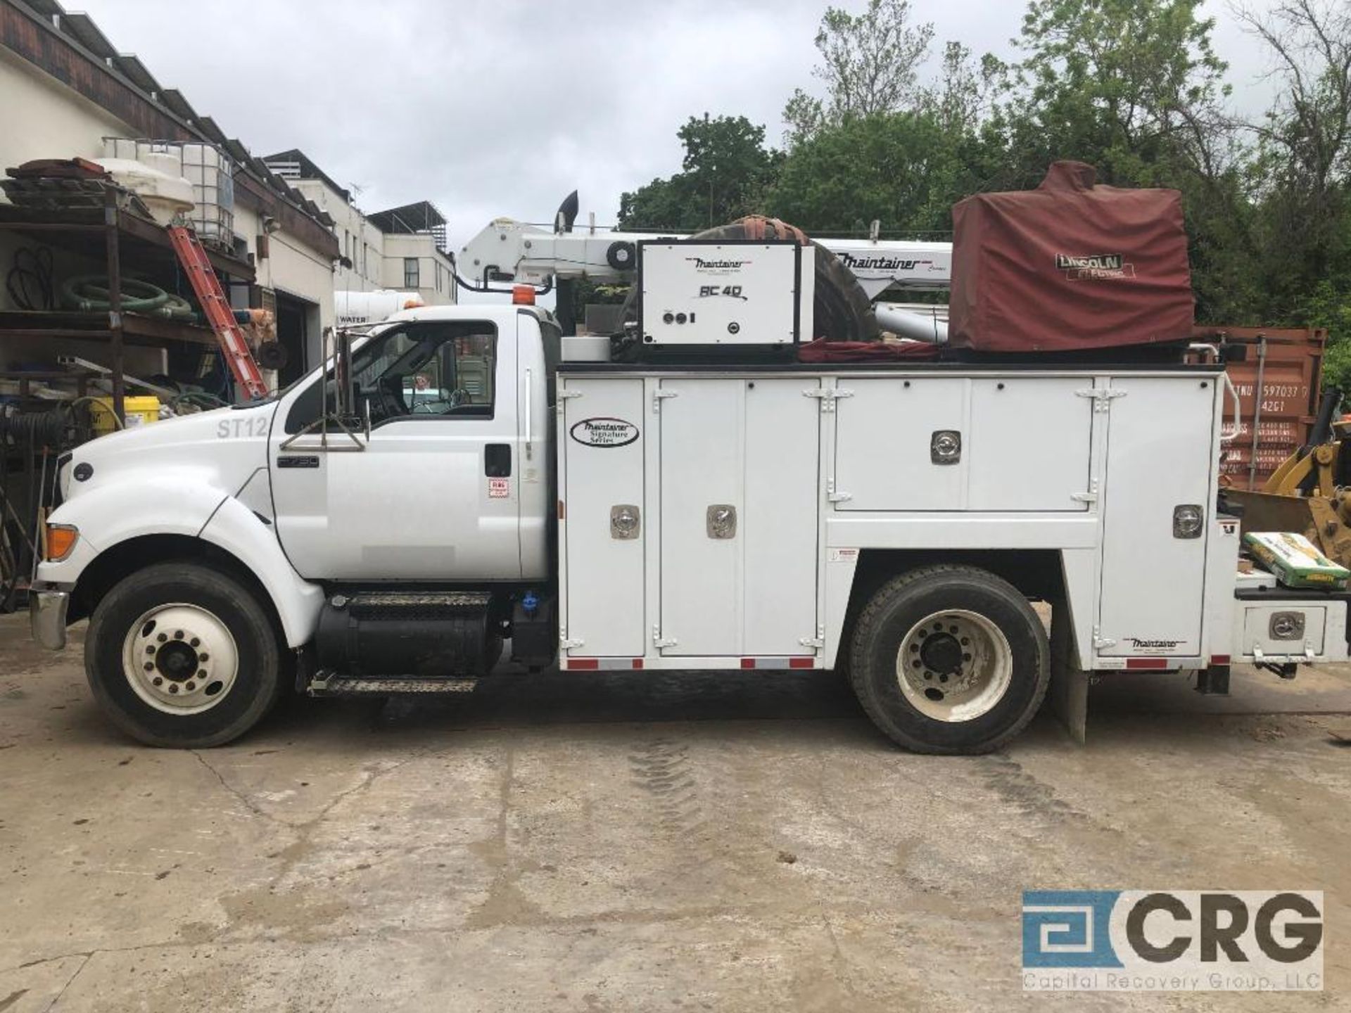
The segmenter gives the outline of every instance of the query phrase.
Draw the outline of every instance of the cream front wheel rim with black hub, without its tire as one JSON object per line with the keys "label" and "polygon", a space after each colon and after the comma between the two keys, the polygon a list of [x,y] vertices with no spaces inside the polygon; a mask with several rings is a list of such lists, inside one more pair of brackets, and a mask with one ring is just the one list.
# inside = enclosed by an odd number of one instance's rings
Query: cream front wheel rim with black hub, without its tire
{"label": "cream front wheel rim with black hub, without its tire", "polygon": [[141,700],[166,715],[196,715],[230,696],[239,674],[235,638],[220,619],[185,602],[157,605],[122,643],[122,670]]}

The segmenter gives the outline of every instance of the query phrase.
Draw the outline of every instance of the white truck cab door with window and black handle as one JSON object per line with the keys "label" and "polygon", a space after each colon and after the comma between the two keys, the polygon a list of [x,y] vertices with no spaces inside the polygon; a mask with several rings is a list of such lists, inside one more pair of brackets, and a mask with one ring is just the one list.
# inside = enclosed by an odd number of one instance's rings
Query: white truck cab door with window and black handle
{"label": "white truck cab door with window and black handle", "polygon": [[[311,579],[482,581],[520,577],[516,332],[490,321],[419,320],[353,355],[365,450],[299,435],[332,407],[332,375],[282,404],[269,466],[277,535]],[[322,386],[324,385],[324,386]],[[351,446],[328,427],[328,446]],[[358,434],[361,435],[361,434]]]}

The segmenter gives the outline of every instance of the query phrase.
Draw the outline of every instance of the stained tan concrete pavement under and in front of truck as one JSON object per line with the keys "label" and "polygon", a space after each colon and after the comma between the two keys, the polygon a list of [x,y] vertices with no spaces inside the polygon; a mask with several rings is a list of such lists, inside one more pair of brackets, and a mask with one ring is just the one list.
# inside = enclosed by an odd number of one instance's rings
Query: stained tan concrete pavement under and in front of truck
{"label": "stained tan concrete pavement under and in front of truck", "polygon": [[[0,619],[0,1013],[1351,1008],[1351,670],[915,756],[817,673],[501,675],[149,750]],[[1327,891],[1316,995],[1024,994],[1024,887]]]}

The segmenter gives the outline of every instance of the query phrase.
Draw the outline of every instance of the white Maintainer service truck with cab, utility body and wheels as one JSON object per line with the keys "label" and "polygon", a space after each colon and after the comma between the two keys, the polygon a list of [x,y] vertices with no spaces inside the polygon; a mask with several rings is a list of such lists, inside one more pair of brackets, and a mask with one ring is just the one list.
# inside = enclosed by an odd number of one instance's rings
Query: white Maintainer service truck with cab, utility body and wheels
{"label": "white Maintainer service truck with cab, utility body and wheels", "polygon": [[504,643],[844,670],[929,752],[998,747],[1052,682],[1082,733],[1096,673],[1347,658],[1346,594],[1238,573],[1220,365],[808,365],[801,255],[638,253],[636,361],[534,305],[411,309],[267,401],[78,447],[35,636],[89,617],[108,715],[184,747],[292,689],[473,689]]}

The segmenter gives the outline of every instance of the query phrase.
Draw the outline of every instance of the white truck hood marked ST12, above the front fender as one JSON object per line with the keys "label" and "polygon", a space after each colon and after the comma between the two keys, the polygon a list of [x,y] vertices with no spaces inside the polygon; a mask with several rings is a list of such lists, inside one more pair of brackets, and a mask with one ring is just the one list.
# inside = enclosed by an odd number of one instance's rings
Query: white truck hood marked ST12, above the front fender
{"label": "white truck hood marked ST12, above the front fender", "polygon": [[254,471],[267,466],[267,436],[276,412],[276,401],[218,408],[93,439],[77,447],[61,469],[62,498],[78,498],[107,482],[136,481],[142,474],[169,474],[232,496]]}

